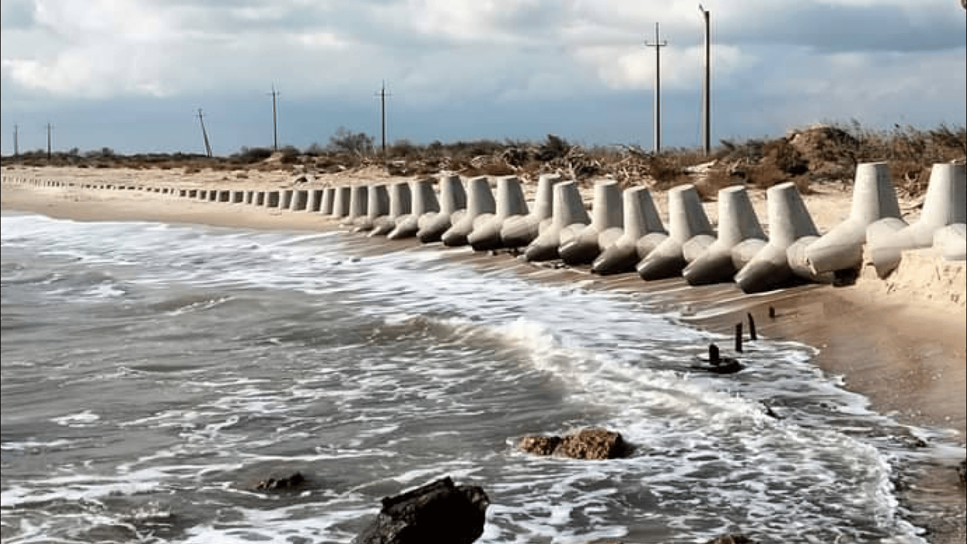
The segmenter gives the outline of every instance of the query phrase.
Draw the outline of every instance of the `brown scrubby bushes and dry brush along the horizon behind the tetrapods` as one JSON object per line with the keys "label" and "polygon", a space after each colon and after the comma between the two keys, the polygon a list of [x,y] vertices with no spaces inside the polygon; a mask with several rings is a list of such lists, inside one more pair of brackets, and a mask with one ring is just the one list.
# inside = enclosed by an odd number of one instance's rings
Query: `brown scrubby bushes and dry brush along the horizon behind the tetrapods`
{"label": "brown scrubby bushes and dry brush along the horizon behind the tetrapods", "polygon": [[206,168],[336,173],[378,167],[394,175],[446,170],[464,176],[517,175],[525,180],[559,172],[584,183],[610,177],[626,186],[647,184],[657,190],[692,182],[702,196],[712,197],[729,185],[765,189],[785,181],[795,182],[800,191],[808,193],[812,184],[851,183],[859,163],[886,161],[897,191],[921,196],[934,163],[962,161],[965,154],[967,131],[962,126],[921,129],[895,125],[891,130],[873,130],[852,121],[794,129],[777,137],[722,139],[710,155],[684,147],[653,153],[632,144],[585,146],[555,135],[541,141],[477,139],[426,144],[400,139],[387,145],[384,155],[373,136],[340,127],[326,145],[312,143],[305,149],[292,145],[278,150],[243,147],[226,157],[122,155],[108,147],[86,152],[74,148],[49,156],[36,150],[3,157],[3,165],[184,168],[186,173]]}

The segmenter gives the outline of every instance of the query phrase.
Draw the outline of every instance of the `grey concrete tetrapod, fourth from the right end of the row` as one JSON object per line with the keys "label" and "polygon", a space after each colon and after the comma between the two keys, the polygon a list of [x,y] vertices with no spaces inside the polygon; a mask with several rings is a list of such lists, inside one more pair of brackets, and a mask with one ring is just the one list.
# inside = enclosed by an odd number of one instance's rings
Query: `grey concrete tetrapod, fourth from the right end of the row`
{"label": "grey concrete tetrapod, fourth from the right end of the row", "polygon": [[745,187],[718,191],[718,237],[682,270],[689,286],[731,282],[735,273],[766,245]]}

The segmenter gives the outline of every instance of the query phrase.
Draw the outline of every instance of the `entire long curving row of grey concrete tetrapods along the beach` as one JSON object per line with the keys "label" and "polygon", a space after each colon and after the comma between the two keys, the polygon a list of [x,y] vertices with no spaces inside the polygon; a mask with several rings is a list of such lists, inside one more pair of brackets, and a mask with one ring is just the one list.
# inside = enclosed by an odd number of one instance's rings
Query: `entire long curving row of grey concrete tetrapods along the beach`
{"label": "entire long curving row of grey concrete tetrapods along the beach", "polygon": [[576,182],[553,174],[540,177],[530,205],[514,176],[498,178],[495,193],[484,176],[464,185],[456,175],[319,189],[143,189],[317,212],[370,236],[417,237],[477,251],[522,248],[527,260],[590,264],[601,275],[636,271],[646,281],[681,275],[693,286],[734,281],[746,292],[831,282],[836,271],[858,269],[864,249],[881,277],[894,270],[906,250],[932,246],[941,258],[967,258],[965,169],[952,163],[933,166],[921,217],[911,225],[900,218],[885,163],[857,166],[850,215],[823,235],[796,186],[776,185],[766,192],[768,237],[741,186],[718,192],[718,232],[690,184],[668,191],[667,227],[645,187],[622,192],[617,182],[599,181],[589,215]]}

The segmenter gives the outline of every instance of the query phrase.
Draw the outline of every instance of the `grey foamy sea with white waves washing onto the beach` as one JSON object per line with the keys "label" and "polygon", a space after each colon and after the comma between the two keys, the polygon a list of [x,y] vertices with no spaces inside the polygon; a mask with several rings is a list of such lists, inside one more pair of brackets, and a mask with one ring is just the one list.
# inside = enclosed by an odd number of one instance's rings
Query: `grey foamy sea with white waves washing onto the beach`
{"label": "grey foamy sea with white waves washing onto the beach", "polygon": [[[445,476],[487,494],[481,543],[927,541],[901,487],[963,448],[815,349],[704,373],[730,339],[657,296],[373,243],[5,211],[3,542],[350,542]],[[516,447],[588,427],[633,453]]]}

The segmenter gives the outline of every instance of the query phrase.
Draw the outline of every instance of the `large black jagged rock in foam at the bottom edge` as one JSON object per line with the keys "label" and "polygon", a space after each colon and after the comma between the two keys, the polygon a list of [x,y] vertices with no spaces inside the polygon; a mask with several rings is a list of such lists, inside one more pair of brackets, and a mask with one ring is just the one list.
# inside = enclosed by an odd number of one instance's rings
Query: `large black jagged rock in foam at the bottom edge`
{"label": "large black jagged rock in foam at the bottom edge", "polygon": [[383,499],[376,520],[353,544],[470,544],[484,534],[490,504],[478,486],[454,486],[449,477]]}

